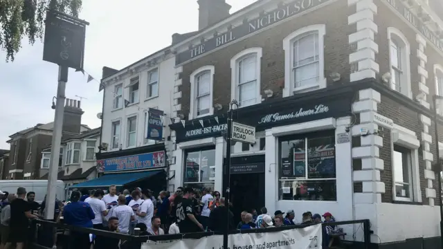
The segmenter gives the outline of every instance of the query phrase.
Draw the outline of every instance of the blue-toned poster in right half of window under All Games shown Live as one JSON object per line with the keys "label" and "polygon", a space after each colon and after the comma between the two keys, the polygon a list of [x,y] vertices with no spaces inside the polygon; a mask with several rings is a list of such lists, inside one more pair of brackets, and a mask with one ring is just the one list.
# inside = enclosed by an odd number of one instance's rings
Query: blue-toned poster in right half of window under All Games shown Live
{"label": "blue-toned poster in right half of window under All Games shown Live", "polygon": [[334,145],[310,147],[308,152],[308,166],[308,178],[334,178]]}

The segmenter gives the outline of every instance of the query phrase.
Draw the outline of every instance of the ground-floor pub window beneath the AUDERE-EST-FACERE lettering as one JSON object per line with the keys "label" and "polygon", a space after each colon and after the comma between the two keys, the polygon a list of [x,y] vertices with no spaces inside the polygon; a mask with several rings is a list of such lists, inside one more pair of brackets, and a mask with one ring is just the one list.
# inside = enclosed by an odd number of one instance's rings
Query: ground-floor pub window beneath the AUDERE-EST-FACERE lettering
{"label": "ground-floor pub window beneath the AUDERE-EST-FACERE lettering", "polygon": [[183,185],[185,187],[210,187],[215,181],[215,149],[186,151]]}

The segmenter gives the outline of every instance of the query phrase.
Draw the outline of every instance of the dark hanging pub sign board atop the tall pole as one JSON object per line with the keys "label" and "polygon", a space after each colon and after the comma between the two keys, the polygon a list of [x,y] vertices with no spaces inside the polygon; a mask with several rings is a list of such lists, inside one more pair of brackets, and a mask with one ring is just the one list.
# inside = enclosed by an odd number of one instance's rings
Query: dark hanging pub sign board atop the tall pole
{"label": "dark hanging pub sign board atop the tall pole", "polygon": [[59,66],[83,69],[84,36],[88,23],[62,12],[47,10],[43,60]]}

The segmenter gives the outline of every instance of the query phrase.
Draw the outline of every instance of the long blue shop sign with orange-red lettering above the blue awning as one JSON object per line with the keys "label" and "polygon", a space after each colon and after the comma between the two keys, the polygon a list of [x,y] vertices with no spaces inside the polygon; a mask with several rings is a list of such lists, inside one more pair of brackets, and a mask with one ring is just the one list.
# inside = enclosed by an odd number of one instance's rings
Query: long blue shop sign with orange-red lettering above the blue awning
{"label": "long blue shop sign with orange-red lettering above the blue awning", "polygon": [[165,151],[98,160],[97,165],[100,172],[165,167]]}

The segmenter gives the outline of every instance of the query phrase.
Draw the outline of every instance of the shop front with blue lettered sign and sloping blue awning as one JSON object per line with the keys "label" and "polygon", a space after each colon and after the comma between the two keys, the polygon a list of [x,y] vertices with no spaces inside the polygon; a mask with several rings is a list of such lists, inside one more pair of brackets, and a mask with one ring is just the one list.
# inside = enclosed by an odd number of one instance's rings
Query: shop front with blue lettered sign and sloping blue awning
{"label": "shop front with blue lettered sign and sloping blue awning", "polygon": [[165,146],[161,143],[102,152],[96,157],[99,177],[70,188],[107,190],[110,185],[116,185],[117,192],[141,187],[158,193],[167,187]]}

